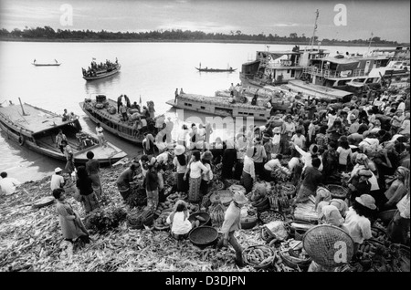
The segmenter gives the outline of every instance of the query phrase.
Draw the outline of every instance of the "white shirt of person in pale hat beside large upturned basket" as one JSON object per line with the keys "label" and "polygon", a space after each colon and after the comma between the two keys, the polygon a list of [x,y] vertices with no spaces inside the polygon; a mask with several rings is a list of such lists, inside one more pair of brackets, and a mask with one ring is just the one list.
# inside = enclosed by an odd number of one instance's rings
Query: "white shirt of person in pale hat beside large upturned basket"
{"label": "white shirt of person in pale hat beside large upturned basket", "polygon": [[360,216],[353,210],[353,207],[348,209],[343,224],[353,238],[354,243],[363,243],[364,240],[373,237],[371,233],[371,222],[364,216]]}

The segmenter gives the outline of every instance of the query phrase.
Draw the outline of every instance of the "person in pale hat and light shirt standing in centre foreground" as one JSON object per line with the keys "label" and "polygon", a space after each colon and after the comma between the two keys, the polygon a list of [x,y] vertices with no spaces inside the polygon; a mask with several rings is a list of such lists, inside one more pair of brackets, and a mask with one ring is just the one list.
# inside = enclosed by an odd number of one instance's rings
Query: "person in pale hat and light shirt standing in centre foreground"
{"label": "person in pale hat and light shirt standing in centre foreground", "polygon": [[223,236],[220,238],[220,240],[218,241],[216,245],[216,248],[220,249],[223,246],[227,247],[228,243],[231,243],[234,250],[236,251],[236,264],[239,267],[244,266],[243,255],[242,255],[243,248],[237,242],[237,239],[234,236],[234,233],[237,230],[241,229],[241,208],[247,202],[248,202],[248,199],[244,195],[244,193],[242,192],[234,193],[233,201],[230,203],[230,205],[227,208],[226,214],[224,215],[224,223],[221,226],[220,232],[223,234]]}

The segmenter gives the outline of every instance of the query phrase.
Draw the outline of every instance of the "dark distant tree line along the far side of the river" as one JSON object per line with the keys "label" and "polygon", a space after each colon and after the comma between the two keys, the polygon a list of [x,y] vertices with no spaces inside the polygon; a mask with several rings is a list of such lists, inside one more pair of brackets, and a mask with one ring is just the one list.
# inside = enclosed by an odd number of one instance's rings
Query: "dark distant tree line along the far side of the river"
{"label": "dark distant tree line along the far side of the river", "polygon": [[[277,34],[264,33],[258,35],[246,35],[240,30],[230,31],[229,34],[223,33],[205,33],[202,31],[190,31],[181,29],[172,30],[155,30],[150,32],[109,32],[106,30],[91,31],[87,30],[62,30],[55,31],[50,26],[28,28],[24,30],[15,28],[12,31],[8,31],[5,28],[0,30],[0,37],[2,38],[16,38],[16,39],[61,39],[61,40],[136,40],[136,41],[150,41],[150,40],[181,40],[181,41],[265,41],[265,42],[290,42],[290,43],[309,43],[310,37],[302,34],[298,36],[297,33],[291,33],[290,36],[278,36]],[[374,36],[372,39],[373,44],[391,44],[397,45],[396,41],[388,41],[381,39],[378,36]],[[315,36],[315,45],[319,41]],[[321,39],[321,45],[332,45],[333,43],[347,43],[347,44],[368,44],[370,39],[353,39],[353,40],[341,40],[341,39]]]}

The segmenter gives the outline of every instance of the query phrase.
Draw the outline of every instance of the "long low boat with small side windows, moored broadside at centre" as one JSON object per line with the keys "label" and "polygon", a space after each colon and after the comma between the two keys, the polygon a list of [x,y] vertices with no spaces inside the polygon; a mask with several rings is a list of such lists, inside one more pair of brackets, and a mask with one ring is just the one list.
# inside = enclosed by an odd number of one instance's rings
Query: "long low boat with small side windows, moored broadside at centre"
{"label": "long low boat with small side windows, moored broadside at centre", "polygon": [[[229,97],[183,94],[177,97],[176,102],[174,102],[174,99],[171,99],[166,103],[177,109],[188,109],[221,117],[252,117],[255,120],[264,121],[270,117],[271,109],[266,107],[268,99],[259,99],[258,105],[251,105],[249,98],[247,103],[231,103],[230,100],[231,98]],[[283,107],[278,109],[287,110],[287,104],[282,101],[279,102],[279,106],[281,106],[281,104]]]}

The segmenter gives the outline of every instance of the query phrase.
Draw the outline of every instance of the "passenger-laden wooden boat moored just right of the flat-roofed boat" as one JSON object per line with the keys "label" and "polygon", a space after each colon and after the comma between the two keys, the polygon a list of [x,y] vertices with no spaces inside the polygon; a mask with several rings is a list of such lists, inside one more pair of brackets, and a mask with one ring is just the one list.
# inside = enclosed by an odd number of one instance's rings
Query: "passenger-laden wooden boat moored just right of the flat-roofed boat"
{"label": "passenger-laden wooden boat moored just right of the flat-roofed boat", "polygon": [[[104,105],[102,105],[103,102]],[[139,145],[142,144],[144,136],[142,132],[136,132],[133,121],[123,121],[121,114],[117,112],[114,114],[110,113],[111,107],[117,110],[117,102],[111,98],[107,98],[103,102],[97,101],[97,99],[87,98],[84,102],[80,102],[79,106],[93,122],[100,123],[103,129],[124,140]],[[100,106],[98,105],[99,103]],[[148,133],[155,136],[154,120],[148,119],[147,128]]]}

